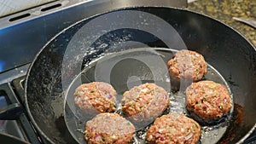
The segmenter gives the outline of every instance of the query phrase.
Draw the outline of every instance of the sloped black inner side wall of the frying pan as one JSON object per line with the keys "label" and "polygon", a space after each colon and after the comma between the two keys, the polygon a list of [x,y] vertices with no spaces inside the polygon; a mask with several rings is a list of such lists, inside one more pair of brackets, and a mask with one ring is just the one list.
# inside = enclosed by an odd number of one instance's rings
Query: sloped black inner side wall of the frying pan
{"label": "sloped black inner side wall of the frying pan", "polygon": [[[241,143],[250,135],[256,122],[256,52],[252,44],[207,16],[183,9],[145,7],[119,9],[82,20],[38,53],[26,78],[26,108],[43,141],[76,142],[65,123],[64,99],[80,72],[104,55],[148,47],[190,49],[204,55],[234,98],[229,124],[212,139],[217,143]],[[85,78],[89,76],[85,72]],[[122,75],[111,76],[110,84],[118,78]]]}

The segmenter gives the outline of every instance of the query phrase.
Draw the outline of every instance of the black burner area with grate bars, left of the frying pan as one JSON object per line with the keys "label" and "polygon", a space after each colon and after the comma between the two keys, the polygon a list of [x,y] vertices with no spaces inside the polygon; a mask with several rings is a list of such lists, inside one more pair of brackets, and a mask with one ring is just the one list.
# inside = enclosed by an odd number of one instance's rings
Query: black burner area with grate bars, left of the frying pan
{"label": "black burner area with grate bars, left of the frying pan", "polygon": [[[22,66],[17,68],[15,71],[24,71],[26,73],[26,69],[28,66]],[[15,74],[15,71],[9,71],[9,74]],[[23,73],[23,72],[22,72]],[[11,81],[8,80],[7,83],[0,85],[0,107],[4,105],[18,105],[24,109],[25,100],[24,100],[24,80],[25,75],[19,75],[19,78],[15,78]],[[16,109],[14,109],[13,113],[16,113]],[[14,135],[20,138],[23,141],[29,141],[32,143],[40,143],[40,139],[36,130],[33,128],[31,121],[29,120],[26,112],[22,112],[21,114],[17,114],[14,116],[17,120],[2,120],[0,122],[0,132]]]}

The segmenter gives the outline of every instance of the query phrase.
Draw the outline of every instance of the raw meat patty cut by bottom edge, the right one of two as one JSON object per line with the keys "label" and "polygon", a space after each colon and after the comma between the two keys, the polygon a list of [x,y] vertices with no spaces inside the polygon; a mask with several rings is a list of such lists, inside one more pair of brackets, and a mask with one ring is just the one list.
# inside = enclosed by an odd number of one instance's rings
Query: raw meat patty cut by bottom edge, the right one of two
{"label": "raw meat patty cut by bottom edge, the right one of two", "polygon": [[156,118],[148,129],[146,141],[149,143],[197,143],[201,136],[201,126],[183,114],[170,113]]}

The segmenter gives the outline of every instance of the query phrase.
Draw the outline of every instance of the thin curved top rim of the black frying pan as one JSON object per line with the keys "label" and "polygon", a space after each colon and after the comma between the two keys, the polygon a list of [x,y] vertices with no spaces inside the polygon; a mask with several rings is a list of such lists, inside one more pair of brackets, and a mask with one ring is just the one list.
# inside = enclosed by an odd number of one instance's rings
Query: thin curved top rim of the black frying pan
{"label": "thin curved top rim of the black frying pan", "polygon": [[[26,74],[26,81],[25,81],[25,103],[26,103],[26,112],[30,118],[30,120],[32,121],[32,124],[33,126],[36,128],[36,130],[40,133],[40,135],[43,135],[44,136],[44,139],[46,139],[47,141],[49,141],[50,143],[55,143],[54,141],[52,141],[51,139],[49,139],[49,137],[47,135],[45,135],[44,131],[41,130],[41,128],[38,126],[38,124],[36,123],[35,119],[33,118],[32,116],[32,112],[30,110],[30,107],[28,106],[28,101],[27,101],[27,83],[28,83],[28,78],[30,78],[30,74],[31,74],[31,71],[32,71],[32,68],[34,66],[34,64],[36,63],[36,61],[38,60],[38,56],[41,55],[41,53],[44,51],[44,49],[46,49],[46,47],[49,45],[49,43],[53,42],[55,40],[56,37],[59,37],[61,35],[61,33],[63,32],[66,32],[68,29],[70,29],[71,27],[73,26],[76,26],[78,25],[79,23],[85,21],[85,20],[90,20],[96,16],[99,16],[99,15],[102,15],[102,14],[108,14],[108,13],[111,13],[111,12],[114,12],[114,11],[117,11],[117,10],[127,10],[127,9],[138,9],[138,8],[145,8],[145,9],[176,9],[176,10],[182,10],[183,12],[186,12],[186,13],[192,13],[192,14],[198,14],[198,15],[201,15],[203,16],[204,18],[206,19],[210,19],[210,20],[214,20],[220,24],[222,24],[223,26],[226,26],[227,28],[230,28],[233,32],[236,32],[239,36],[241,36],[241,38],[243,38],[243,40],[245,40],[249,45],[251,45],[251,47],[254,49],[254,51],[256,52],[256,48],[255,46],[253,46],[253,43],[251,43],[245,36],[243,36],[241,34],[241,32],[238,32],[236,29],[234,29],[233,27],[225,24],[224,22],[220,21],[220,20],[217,20],[215,18],[212,18],[211,16],[207,15],[207,14],[201,14],[199,12],[195,12],[193,10],[190,10],[190,9],[181,9],[181,8],[174,8],[174,7],[167,7],[167,6],[134,6],[134,7],[131,7],[131,6],[128,6],[128,7],[125,7],[125,8],[119,8],[119,9],[110,9],[110,10],[107,10],[105,12],[102,12],[100,14],[93,14],[87,18],[84,18],[83,20],[79,20],[77,22],[75,22],[73,25],[71,26],[67,26],[65,29],[61,30],[61,32],[58,32],[54,37],[50,38],[49,41],[47,43],[44,44],[44,46],[38,51],[37,55],[35,55],[34,59],[32,60],[31,62],[31,65],[29,66],[28,68],[28,71],[27,71],[27,74]],[[253,133],[253,130],[256,130],[256,123],[253,125],[252,129],[249,130],[247,132],[246,135],[244,135],[240,141],[237,141],[236,144],[241,144],[243,141],[245,141],[247,139],[247,137],[249,135],[251,135]]]}

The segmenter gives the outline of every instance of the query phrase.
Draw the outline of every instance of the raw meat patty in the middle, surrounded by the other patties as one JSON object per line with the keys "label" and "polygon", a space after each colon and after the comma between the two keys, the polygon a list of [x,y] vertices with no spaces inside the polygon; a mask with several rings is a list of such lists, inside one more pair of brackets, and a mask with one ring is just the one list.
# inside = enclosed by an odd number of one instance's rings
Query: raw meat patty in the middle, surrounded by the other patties
{"label": "raw meat patty in the middle, surrounded by the other patties", "polygon": [[122,111],[136,121],[151,120],[165,111],[169,102],[165,89],[147,83],[125,91]]}

